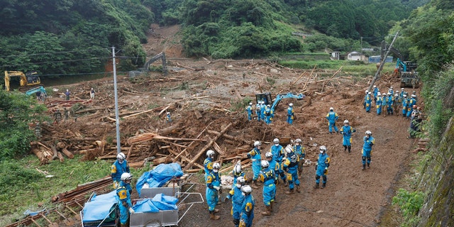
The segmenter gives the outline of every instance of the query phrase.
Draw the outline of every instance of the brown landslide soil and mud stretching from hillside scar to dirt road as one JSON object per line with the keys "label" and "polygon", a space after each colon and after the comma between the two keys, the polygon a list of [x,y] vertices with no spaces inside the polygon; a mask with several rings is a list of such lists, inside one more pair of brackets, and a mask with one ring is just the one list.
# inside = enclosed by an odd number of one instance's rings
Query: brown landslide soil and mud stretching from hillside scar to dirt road
{"label": "brown landslide soil and mud stretching from hillside scar to dirt road", "polygon": [[[260,211],[265,209],[262,191],[254,190],[256,202],[254,226],[379,225],[380,214],[389,204],[399,171],[408,163],[405,159],[411,153],[413,140],[406,138],[409,121],[402,116],[377,116],[374,113],[367,114],[362,109],[364,91],[372,75],[358,79],[348,72],[341,72],[332,80],[315,82],[329,79],[334,71],[316,70],[312,74],[316,77],[309,79],[311,70],[308,70],[301,79],[290,86],[304,72],[303,70],[292,70],[256,60],[181,60],[182,48],[175,41],[177,31],[177,27],[153,27],[149,43],[145,45],[150,56],[165,50],[167,63],[170,65],[167,77],[160,73],[152,73],[135,80],[123,77],[118,79],[118,106],[121,106],[121,112],[145,111],[171,104],[167,111],[172,113],[173,120],[172,123],[166,123],[165,113],[158,115],[160,111],[151,111],[122,120],[120,131],[122,144],[126,149],[129,147],[126,145],[128,137],[143,132],[159,134],[160,130],[173,124],[179,124],[181,127],[175,133],[166,136],[196,138],[208,124],[209,130],[220,132],[228,123],[233,123],[226,134],[241,138],[249,145],[252,145],[254,140],[262,140],[263,143],[269,144],[273,138],[301,138],[306,147],[306,159],[313,162],[319,153],[319,145],[326,145],[327,153],[331,157],[327,187],[313,189],[314,165],[304,167],[300,179],[301,193],[287,195],[284,194],[287,187],[277,186],[277,201],[272,216],[260,214]],[[398,89],[399,80],[393,78],[391,73],[384,72],[376,83],[377,87],[382,90],[387,90],[390,86]],[[106,108],[87,112],[89,114],[79,114],[76,122],[65,121],[59,125],[48,126],[45,128],[47,132],[43,132],[43,143],[51,140],[46,136],[55,135],[54,138],[65,138],[65,142],[70,144],[69,149],[77,152],[96,146],[80,144],[71,138],[99,138],[103,141],[109,137],[115,138],[115,124],[106,119],[109,115],[112,118],[115,111],[113,85],[112,79],[100,79],[62,87],[61,89],[70,89],[77,99],[89,99],[89,89],[94,87],[97,92],[96,98],[82,106],[82,109]],[[182,89],[185,86],[187,89]],[[411,92],[411,88],[407,88],[406,91]],[[416,91],[419,94],[419,90]],[[271,92],[273,98],[276,94],[303,92],[306,98],[302,101],[282,100],[276,109],[275,122],[270,125],[247,121],[243,108],[240,111],[234,110],[236,102],[245,97],[249,97],[255,104],[254,94],[262,92]],[[62,98],[53,97],[50,100],[60,99]],[[294,104],[296,115],[292,126],[285,122],[286,108],[290,102]],[[340,116],[338,127],[341,127],[344,119],[348,119],[351,126],[357,130],[353,133],[353,148],[350,154],[343,151],[341,134],[328,133],[325,116],[331,106]],[[62,106],[49,107],[52,111]],[[372,112],[374,110],[372,109]],[[194,111],[198,111],[202,117],[197,118]],[[370,169],[362,171],[362,137],[367,130],[372,131],[375,146]],[[201,138],[209,140],[214,138],[214,135],[204,133]],[[228,155],[235,154],[236,147],[244,145],[240,142],[236,144],[227,142],[222,137],[216,141],[221,150],[225,150]],[[150,156],[153,150],[159,149],[160,145],[163,144],[152,141],[140,146],[137,148],[140,153],[133,152],[135,155],[131,155],[130,162],[143,160]],[[196,145],[187,157],[194,157],[204,145],[206,143]],[[269,146],[265,145],[265,148],[267,147]],[[87,154],[87,159],[114,153],[115,148],[104,147],[104,150],[99,149],[98,153]],[[264,154],[265,149],[262,155]],[[204,155],[198,162],[203,162],[203,159]],[[246,169],[248,175],[252,175],[251,171]],[[199,182],[194,190],[204,196],[204,183]],[[231,204],[220,204],[218,208],[221,209],[221,219],[211,221],[206,203],[196,204],[182,218],[179,226],[233,226]]]}

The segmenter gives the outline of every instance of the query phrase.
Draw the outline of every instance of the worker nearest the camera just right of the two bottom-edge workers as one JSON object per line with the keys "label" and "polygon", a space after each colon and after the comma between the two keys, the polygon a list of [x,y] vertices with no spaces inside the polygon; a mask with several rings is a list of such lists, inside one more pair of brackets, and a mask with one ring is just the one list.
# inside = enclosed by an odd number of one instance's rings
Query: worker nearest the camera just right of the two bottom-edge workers
{"label": "worker nearest the camera just right of the two bottom-edge workers", "polygon": [[263,203],[265,204],[265,211],[262,215],[270,216],[272,213],[272,204],[275,202],[276,197],[276,182],[277,175],[275,169],[270,166],[267,160],[262,160],[262,171],[259,175],[259,181],[263,182]]}

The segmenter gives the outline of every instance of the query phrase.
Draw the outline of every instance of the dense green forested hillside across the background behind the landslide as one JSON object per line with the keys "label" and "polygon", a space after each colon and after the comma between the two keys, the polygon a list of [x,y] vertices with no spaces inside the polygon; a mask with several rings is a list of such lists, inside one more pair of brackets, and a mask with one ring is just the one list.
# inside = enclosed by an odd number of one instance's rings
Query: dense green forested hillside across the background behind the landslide
{"label": "dense green forested hillside across the background behind the landslide", "polygon": [[187,57],[349,52],[378,45],[427,2],[1,0],[0,68],[47,75],[104,72],[115,47],[121,70],[133,70],[146,60],[141,44],[151,23],[181,24]]}

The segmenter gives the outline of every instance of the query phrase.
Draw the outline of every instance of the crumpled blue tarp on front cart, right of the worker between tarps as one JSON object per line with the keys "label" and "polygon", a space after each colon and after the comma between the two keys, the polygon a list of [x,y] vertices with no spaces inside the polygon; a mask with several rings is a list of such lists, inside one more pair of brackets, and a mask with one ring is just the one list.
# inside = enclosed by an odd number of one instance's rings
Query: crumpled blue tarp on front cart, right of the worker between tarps
{"label": "crumpled blue tarp on front cart, right of the worker between tarps", "polygon": [[135,212],[157,213],[159,211],[177,210],[178,199],[164,194],[156,194],[153,199],[143,199],[138,201],[133,209]]}

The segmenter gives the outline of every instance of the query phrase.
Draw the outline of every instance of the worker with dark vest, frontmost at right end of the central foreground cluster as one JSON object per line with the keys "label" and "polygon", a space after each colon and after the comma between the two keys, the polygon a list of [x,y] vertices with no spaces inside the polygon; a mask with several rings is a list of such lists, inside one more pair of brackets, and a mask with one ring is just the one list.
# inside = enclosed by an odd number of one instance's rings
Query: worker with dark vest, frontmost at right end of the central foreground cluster
{"label": "worker with dark vest, frontmost at right end of the central foreground cluster", "polygon": [[287,152],[287,158],[282,162],[282,169],[287,172],[287,182],[289,182],[289,191],[285,192],[285,194],[294,194],[295,185],[297,185],[297,192],[299,193],[299,157],[294,153],[292,146],[287,146],[285,151]]}

